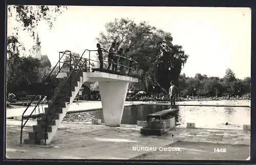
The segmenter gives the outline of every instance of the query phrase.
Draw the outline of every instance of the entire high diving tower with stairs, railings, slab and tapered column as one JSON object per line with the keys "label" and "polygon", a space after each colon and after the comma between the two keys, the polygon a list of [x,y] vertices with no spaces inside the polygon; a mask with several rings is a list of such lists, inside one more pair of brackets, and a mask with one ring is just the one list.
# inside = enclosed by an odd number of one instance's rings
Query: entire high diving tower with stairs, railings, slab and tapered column
{"label": "entire high diving tower with stairs, railings, slab and tapered column", "polygon": [[[86,51],[89,51],[89,59],[83,57]],[[90,53],[92,51],[97,50],[86,49],[81,56],[75,56],[69,50],[59,52],[58,63],[45,79],[45,85],[48,91],[47,97],[49,99],[47,103],[48,107],[45,107],[45,113],[40,114],[40,119],[37,119],[37,124],[33,125],[33,131],[29,132],[29,138],[25,139],[24,143],[49,144],[70,106],[72,106],[71,103],[76,98],[80,88],[87,81],[98,82],[105,125],[113,127],[120,126],[129,83],[138,82],[138,63],[122,57],[126,60],[124,64],[129,64],[129,67],[114,64],[119,69],[116,68],[116,71],[113,72],[112,70],[106,69],[108,61],[103,61],[103,68],[91,68],[92,64],[99,63],[99,61],[91,60]],[[72,57],[79,59],[76,64],[73,64],[71,60],[66,60],[67,58],[72,59]],[[66,67],[69,71],[63,71],[63,67]],[[58,70],[56,74],[53,73],[55,69]],[[57,78],[57,85],[51,82],[51,76]],[[24,115],[34,99],[31,99],[22,115],[20,143],[23,140],[23,128],[33,112],[35,112],[36,107],[39,108],[40,102],[42,101],[42,99],[38,100],[36,105],[32,107],[33,111],[30,116],[23,123]]]}

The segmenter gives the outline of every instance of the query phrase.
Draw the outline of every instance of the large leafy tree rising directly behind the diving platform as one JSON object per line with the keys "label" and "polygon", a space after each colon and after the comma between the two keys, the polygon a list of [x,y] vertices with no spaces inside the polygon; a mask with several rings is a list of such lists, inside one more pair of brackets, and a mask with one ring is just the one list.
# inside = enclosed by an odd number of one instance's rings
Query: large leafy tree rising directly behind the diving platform
{"label": "large leafy tree rising directly behind the diving platform", "polygon": [[[106,33],[101,32],[98,42],[105,48],[113,41],[123,48],[130,48],[130,54],[139,64],[139,84],[143,90],[151,91],[153,86],[166,92],[170,80],[178,82],[182,66],[188,56],[180,45],[173,45],[173,37],[149,25],[145,21],[135,23],[128,18],[115,19],[105,24]],[[138,87],[139,88],[139,87]]]}

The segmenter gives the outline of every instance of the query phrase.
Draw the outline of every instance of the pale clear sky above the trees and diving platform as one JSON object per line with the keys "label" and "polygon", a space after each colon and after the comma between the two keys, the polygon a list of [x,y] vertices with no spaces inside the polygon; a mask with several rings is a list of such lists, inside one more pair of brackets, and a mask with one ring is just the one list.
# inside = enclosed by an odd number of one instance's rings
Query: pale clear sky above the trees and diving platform
{"label": "pale clear sky above the trees and diving platform", "polygon": [[[130,18],[136,23],[148,21],[157,29],[170,32],[173,44],[182,45],[189,56],[182,68],[186,76],[201,73],[223,77],[227,68],[237,78],[251,76],[249,8],[68,6],[51,30],[44,21],[38,24],[41,52],[55,65],[59,51],[81,54],[84,49],[96,49],[96,37],[105,32],[105,23],[115,18]],[[10,18],[7,33],[11,34],[17,24]],[[35,44],[25,31],[18,37],[26,49]]]}

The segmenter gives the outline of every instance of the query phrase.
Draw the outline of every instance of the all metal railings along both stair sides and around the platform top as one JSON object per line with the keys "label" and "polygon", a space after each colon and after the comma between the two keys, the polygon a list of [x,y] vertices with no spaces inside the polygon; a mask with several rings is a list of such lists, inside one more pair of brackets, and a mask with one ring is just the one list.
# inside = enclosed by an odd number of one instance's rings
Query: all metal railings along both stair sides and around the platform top
{"label": "all metal railings along both stair sides and around the platform top", "polygon": [[[84,53],[85,53],[86,51],[89,51],[89,59],[83,58],[83,55],[84,55]],[[54,115],[56,114],[58,108],[56,108],[55,111],[53,112],[52,118],[51,118],[50,120],[48,120],[48,116],[49,116],[49,114],[50,114],[50,109],[51,109],[54,105],[56,105],[56,103],[59,103],[59,98],[60,98],[60,97],[58,97],[58,95],[59,95],[60,92],[62,91],[63,87],[65,87],[68,82],[70,83],[70,84],[69,84],[69,85],[70,85],[70,89],[69,89],[69,92],[68,92],[68,100],[69,100],[68,104],[69,104],[69,103],[70,103],[70,97],[71,97],[72,82],[77,78],[77,75],[78,75],[78,73],[81,71],[81,69],[84,69],[83,71],[91,72],[91,67],[92,67],[92,65],[94,64],[94,63],[91,63],[91,62],[100,63],[100,61],[91,60],[91,51],[97,51],[97,50],[88,50],[88,49],[85,49],[85,50],[83,51],[83,53],[81,54],[81,57],[75,56],[75,55],[72,54],[71,51],[69,51],[69,50],[60,51],[60,52],[59,52],[59,60],[58,60],[58,62],[56,63],[56,65],[53,67],[53,69],[52,69],[51,72],[49,73],[48,77],[46,78],[46,84],[45,84],[45,85],[47,86],[48,90],[50,90],[50,91],[53,90],[53,91],[54,91],[54,90],[56,89],[56,87],[57,87],[59,84],[57,84],[56,86],[53,86],[53,88],[52,88],[52,86],[51,86],[51,85],[52,85],[52,84],[51,84],[51,75],[53,74],[53,71],[54,71],[54,70],[56,69],[56,67],[58,66],[58,71],[57,71],[56,75],[53,77],[54,79],[56,79],[56,77],[57,77],[57,75],[60,73],[61,69],[62,69],[63,67],[65,67],[65,66],[67,66],[66,64],[68,64],[70,74],[67,76],[67,78],[65,79],[65,82],[64,82],[64,83],[62,84],[62,86],[60,87],[60,90],[58,90],[57,93],[54,93],[54,95],[55,95],[56,97],[55,97],[54,100],[52,100],[52,105],[51,105],[50,107],[48,107],[48,111],[47,111],[47,113],[46,113],[46,120],[45,120],[45,123],[46,123],[46,125],[45,125],[45,145],[46,145],[46,140],[47,140],[47,128],[49,127],[50,122],[53,120],[53,117],[54,117]],[[60,56],[61,53],[62,53],[62,56]],[[69,60],[66,60],[66,61],[62,62],[61,60],[63,59],[63,57],[65,57],[65,55],[68,55],[68,56],[69,56]],[[66,56],[66,57],[67,57],[67,56]],[[79,58],[79,60],[76,62],[76,64],[72,64],[72,57]],[[128,76],[130,76],[131,71],[135,71],[135,72],[136,72],[136,76],[138,76],[138,63],[137,63],[136,61],[131,60],[131,59],[127,59],[127,58],[122,57],[122,56],[119,56],[119,58],[123,58],[124,61],[128,62],[128,63],[127,63],[128,66],[123,65],[123,64],[125,63],[125,62],[123,61],[122,64],[112,62],[112,67],[114,67],[114,66],[118,67],[118,66],[119,66],[120,71],[121,71],[121,68],[127,69],[127,70],[128,70],[128,73],[127,73]],[[83,60],[83,61],[82,61],[82,60]],[[82,64],[81,64],[81,63],[82,63]],[[88,65],[88,63],[89,63],[89,65]],[[108,61],[103,60],[103,67],[104,67],[105,70],[106,70],[106,63],[109,64]],[[133,63],[133,65],[135,66],[135,68],[132,67],[131,63]],[[60,66],[60,64],[62,64],[62,66]],[[113,65],[113,64],[114,64],[114,65]],[[77,69],[77,67],[78,67],[78,69]],[[93,69],[95,69],[95,68],[92,68],[92,71],[93,71]],[[76,72],[76,71],[77,71],[77,73],[75,73],[74,78],[72,79],[72,74],[73,74],[74,72]],[[104,70],[102,70],[102,71],[104,72]],[[121,75],[125,75],[124,73],[120,73],[120,74],[121,74]],[[51,89],[50,89],[50,88],[51,88]],[[55,91],[54,91],[54,92],[55,92]],[[48,102],[49,102],[49,98],[50,98],[50,95],[51,95],[50,92],[48,92],[47,95],[48,95]],[[37,97],[37,96],[36,96],[36,97]],[[33,112],[35,111],[36,107],[39,106],[39,103],[40,103],[41,100],[42,100],[42,98],[39,99],[39,101],[36,103],[36,105],[35,105],[35,107],[34,107],[32,113],[29,115],[29,117],[27,118],[26,122],[23,124],[24,114],[27,112],[28,108],[30,107],[31,103],[36,99],[36,97],[33,98],[33,99],[30,101],[29,105],[27,106],[27,108],[25,109],[25,111],[24,111],[24,113],[23,113],[23,115],[22,115],[22,125],[21,125],[21,131],[20,131],[20,143],[22,143],[23,128],[25,127],[26,123],[27,123],[28,120],[31,118],[31,116],[32,116]],[[67,95],[66,95],[65,97],[67,98]],[[61,102],[61,103],[62,103],[62,102]]]}

